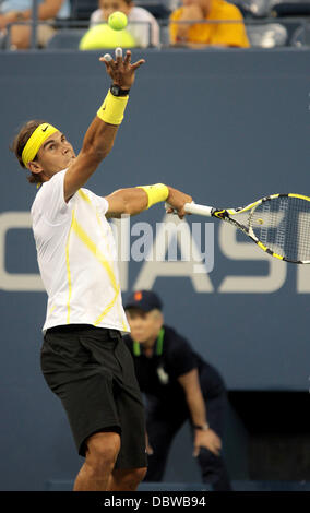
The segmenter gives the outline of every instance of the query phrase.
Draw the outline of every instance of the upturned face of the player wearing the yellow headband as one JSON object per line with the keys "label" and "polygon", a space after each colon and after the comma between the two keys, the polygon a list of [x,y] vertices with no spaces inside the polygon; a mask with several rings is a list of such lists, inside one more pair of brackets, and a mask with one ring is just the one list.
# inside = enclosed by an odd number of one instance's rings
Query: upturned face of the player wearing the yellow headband
{"label": "upturned face of the player wearing the yellow headband", "polygon": [[74,158],[72,145],[59,131],[51,134],[37,153],[37,163],[47,178],[69,167]]}

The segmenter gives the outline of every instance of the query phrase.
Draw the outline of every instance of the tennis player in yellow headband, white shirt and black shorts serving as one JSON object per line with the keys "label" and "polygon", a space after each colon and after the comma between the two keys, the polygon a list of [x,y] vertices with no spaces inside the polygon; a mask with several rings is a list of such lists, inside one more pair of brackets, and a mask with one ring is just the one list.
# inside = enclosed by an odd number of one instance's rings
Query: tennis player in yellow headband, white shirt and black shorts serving
{"label": "tennis player in yellow headband, white shirt and black shorts serving", "polygon": [[48,122],[29,121],[12,150],[39,187],[32,206],[40,275],[48,294],[41,369],[67,411],[85,462],[74,490],[136,490],[146,472],[145,419],[133,361],[121,332],[116,249],[107,217],[138,214],[168,200],[180,217],[191,198],[165,184],[105,198],[84,183],[112,148],[135,71],[128,50],[100,58],[112,85],[78,156]]}

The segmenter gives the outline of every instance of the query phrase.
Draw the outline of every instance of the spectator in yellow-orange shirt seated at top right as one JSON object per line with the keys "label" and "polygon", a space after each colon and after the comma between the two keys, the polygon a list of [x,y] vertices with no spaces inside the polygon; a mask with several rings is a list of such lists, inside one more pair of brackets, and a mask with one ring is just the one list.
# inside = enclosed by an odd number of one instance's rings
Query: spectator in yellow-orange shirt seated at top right
{"label": "spectator in yellow-orange shirt seated at top right", "polygon": [[171,22],[198,20],[218,23],[170,23],[170,43],[191,48],[203,48],[206,45],[240,48],[250,46],[242,14],[231,3],[225,0],[183,0],[183,7],[170,15]]}

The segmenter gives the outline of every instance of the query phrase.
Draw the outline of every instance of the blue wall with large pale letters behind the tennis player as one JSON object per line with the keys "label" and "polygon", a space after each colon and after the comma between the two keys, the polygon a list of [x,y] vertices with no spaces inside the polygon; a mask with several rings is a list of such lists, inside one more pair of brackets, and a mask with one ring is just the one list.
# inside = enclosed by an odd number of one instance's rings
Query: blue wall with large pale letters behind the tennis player
{"label": "blue wall with large pale letters behind the tennis player", "polygon": [[[46,296],[28,224],[35,189],[8,146],[24,121],[43,118],[81,147],[109,84],[98,57],[0,53],[3,490],[44,489],[49,479],[72,478],[80,464],[61,406],[40,375]],[[112,153],[90,189],[105,195],[163,181],[216,206],[309,192],[309,51],[148,50],[143,57]],[[163,217],[157,205],[131,227],[150,222],[155,232]],[[200,220],[189,220],[190,234]],[[220,370],[229,390],[307,391],[310,269],[272,261],[229,226],[214,223],[214,230],[210,274],[178,277],[180,262],[164,269],[131,261],[122,266],[123,296],[153,286],[166,322]],[[132,234],[130,242],[138,239]],[[191,472],[188,466],[176,479],[190,479]]]}

